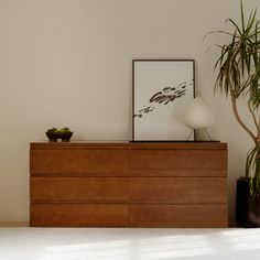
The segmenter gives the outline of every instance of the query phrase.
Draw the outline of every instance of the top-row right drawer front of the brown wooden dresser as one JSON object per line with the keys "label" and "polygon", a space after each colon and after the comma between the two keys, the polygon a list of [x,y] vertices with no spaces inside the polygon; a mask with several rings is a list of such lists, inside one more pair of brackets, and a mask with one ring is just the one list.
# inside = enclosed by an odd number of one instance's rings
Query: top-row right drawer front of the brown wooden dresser
{"label": "top-row right drawer front of the brown wooden dresser", "polygon": [[137,174],[225,176],[226,150],[130,150],[129,170]]}

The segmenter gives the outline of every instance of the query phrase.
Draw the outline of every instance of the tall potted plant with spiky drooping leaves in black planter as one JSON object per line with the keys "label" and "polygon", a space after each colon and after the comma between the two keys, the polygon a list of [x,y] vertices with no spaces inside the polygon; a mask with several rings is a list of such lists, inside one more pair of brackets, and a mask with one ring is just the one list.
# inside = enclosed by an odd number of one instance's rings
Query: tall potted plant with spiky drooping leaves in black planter
{"label": "tall potted plant with spiky drooping leaves in black planter", "polygon": [[[242,1],[241,22],[228,19],[232,32],[218,31],[229,37],[220,47],[215,64],[215,90],[230,97],[238,123],[250,136],[252,149],[248,152],[246,174],[237,181],[236,219],[242,227],[260,227],[260,24],[257,10],[245,19]],[[253,126],[248,126],[239,115],[237,100],[247,102]]]}

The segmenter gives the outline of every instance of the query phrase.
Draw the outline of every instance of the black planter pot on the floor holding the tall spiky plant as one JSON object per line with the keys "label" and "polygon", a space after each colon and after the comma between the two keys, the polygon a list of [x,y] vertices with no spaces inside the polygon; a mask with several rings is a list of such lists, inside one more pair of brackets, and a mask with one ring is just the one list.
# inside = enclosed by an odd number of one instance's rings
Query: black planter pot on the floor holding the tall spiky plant
{"label": "black planter pot on the floor holding the tall spiky plant", "polygon": [[237,181],[236,220],[239,227],[260,227],[260,197],[250,195],[247,180]]}

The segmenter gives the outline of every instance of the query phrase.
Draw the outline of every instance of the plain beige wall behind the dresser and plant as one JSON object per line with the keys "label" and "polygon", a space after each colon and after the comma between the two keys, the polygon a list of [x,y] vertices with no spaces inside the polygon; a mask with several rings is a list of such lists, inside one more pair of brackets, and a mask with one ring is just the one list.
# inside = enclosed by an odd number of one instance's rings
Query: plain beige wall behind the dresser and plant
{"label": "plain beige wall behind the dresser and plant", "polygon": [[251,143],[225,98],[213,97],[216,52],[206,50],[223,36],[203,40],[228,17],[239,17],[239,0],[0,0],[0,221],[28,220],[29,143],[47,128],[130,139],[132,58],[195,59],[196,87],[217,116],[209,132],[229,144],[232,219]]}

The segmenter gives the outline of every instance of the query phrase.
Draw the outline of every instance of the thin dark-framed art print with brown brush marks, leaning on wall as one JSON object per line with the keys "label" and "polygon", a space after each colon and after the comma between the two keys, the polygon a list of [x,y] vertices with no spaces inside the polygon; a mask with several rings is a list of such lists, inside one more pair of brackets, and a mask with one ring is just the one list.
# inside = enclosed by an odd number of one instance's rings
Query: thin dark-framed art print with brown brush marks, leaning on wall
{"label": "thin dark-framed art print with brown brush marks, leaning on wall", "polygon": [[[194,98],[194,59],[133,59],[133,141],[183,141]],[[191,139],[189,139],[191,140]]]}

